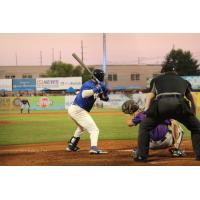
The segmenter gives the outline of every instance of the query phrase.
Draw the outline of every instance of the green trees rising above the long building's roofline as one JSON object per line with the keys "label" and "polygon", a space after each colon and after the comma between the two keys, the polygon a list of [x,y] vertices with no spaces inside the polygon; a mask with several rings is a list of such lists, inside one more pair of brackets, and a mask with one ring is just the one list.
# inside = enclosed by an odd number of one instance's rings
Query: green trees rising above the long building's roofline
{"label": "green trees rising above the long building's roofline", "polygon": [[[177,73],[180,76],[198,76],[200,75],[199,64],[193,58],[190,51],[183,51],[182,49],[172,49],[165,57],[162,63],[161,73],[169,63],[174,65]],[[92,71],[94,68],[90,68]],[[82,76],[83,82],[89,80],[91,75],[81,66],[74,66],[62,61],[55,61],[52,63],[50,69],[43,74],[42,77],[73,77]]]}

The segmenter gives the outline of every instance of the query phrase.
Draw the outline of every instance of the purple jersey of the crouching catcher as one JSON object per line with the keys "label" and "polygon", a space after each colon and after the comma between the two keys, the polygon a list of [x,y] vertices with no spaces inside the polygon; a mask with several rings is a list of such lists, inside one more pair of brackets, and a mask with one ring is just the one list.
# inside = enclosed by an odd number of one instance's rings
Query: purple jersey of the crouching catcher
{"label": "purple jersey of the crouching catcher", "polygon": [[[138,125],[145,118],[144,111],[139,112],[133,119],[133,123]],[[157,125],[150,133],[150,138],[153,141],[162,140],[169,131],[168,125],[171,125],[170,120],[165,120],[163,123]]]}

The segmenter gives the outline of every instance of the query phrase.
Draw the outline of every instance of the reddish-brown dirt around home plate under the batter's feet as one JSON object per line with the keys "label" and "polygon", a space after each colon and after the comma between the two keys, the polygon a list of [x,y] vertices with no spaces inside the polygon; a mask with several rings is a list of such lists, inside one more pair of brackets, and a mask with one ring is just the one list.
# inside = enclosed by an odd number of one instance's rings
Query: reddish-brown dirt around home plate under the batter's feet
{"label": "reddish-brown dirt around home plate under the batter's feet", "polygon": [[104,140],[99,147],[108,150],[108,154],[90,155],[89,141],[81,141],[79,152],[66,152],[65,142],[12,145],[0,147],[1,166],[194,166],[200,161],[194,159],[190,141],[183,142],[186,155],[172,158],[168,149],[150,151],[147,163],[136,163],[131,150],[136,142],[130,140]]}

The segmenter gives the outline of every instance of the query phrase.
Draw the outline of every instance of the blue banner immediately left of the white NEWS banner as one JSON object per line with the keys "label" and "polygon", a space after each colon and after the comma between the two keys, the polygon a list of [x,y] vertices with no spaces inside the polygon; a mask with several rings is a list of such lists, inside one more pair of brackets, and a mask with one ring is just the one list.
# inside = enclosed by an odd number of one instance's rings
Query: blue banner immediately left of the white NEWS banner
{"label": "blue banner immediately left of the white NEWS banner", "polygon": [[35,79],[13,79],[13,92],[34,91],[36,89]]}

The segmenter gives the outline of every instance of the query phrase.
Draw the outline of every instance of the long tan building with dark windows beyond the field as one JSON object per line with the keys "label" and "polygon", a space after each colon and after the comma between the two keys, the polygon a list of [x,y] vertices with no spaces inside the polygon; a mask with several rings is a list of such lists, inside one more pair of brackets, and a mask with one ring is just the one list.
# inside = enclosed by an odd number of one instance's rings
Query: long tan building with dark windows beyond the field
{"label": "long tan building with dark windows beyond the field", "polygon": [[[0,66],[0,79],[39,78],[49,68],[50,66]],[[161,65],[107,65],[106,79],[111,90],[142,89],[160,71]]]}

